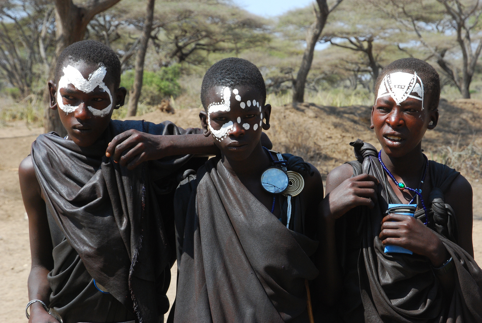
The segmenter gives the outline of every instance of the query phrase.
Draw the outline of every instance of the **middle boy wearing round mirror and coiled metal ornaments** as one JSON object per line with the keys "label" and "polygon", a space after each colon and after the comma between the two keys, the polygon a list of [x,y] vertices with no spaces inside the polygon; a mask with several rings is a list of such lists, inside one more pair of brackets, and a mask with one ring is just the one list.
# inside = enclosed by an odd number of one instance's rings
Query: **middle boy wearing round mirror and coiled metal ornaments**
{"label": "middle boy wearing round mirror and coiled metal ornaments", "polygon": [[[262,147],[271,116],[265,100],[261,73],[244,59],[223,59],[204,76],[201,125],[221,156],[176,190],[179,275],[168,322],[308,322],[321,175],[300,157]],[[281,177],[270,182],[263,176],[273,169]],[[294,176],[289,184],[285,171]],[[265,189],[281,178],[283,193]],[[313,296],[321,290],[317,280],[311,286]]]}

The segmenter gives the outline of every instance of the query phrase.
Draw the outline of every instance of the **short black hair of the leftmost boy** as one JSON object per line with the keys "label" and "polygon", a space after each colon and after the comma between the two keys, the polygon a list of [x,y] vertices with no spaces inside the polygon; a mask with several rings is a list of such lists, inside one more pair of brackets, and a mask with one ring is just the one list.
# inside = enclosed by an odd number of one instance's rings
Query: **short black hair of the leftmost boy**
{"label": "short black hair of the leftmost boy", "polygon": [[82,61],[106,67],[109,81],[114,83],[114,90],[120,85],[120,61],[114,51],[97,40],[74,42],[60,53],[55,67],[55,83],[62,77],[62,67],[66,61]]}

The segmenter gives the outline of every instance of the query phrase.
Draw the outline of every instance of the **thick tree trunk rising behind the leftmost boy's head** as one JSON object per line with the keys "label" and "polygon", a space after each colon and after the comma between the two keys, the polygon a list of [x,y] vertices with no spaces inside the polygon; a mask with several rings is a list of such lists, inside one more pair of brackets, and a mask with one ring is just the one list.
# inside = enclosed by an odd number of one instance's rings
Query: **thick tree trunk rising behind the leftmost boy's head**
{"label": "thick tree trunk rising behind the leftmost boy's head", "polygon": [[[49,72],[49,80],[54,80],[57,57],[69,45],[84,39],[87,25],[97,13],[101,13],[120,0],[98,0],[88,7],[75,5],[72,0],[55,0],[55,32],[56,46],[55,55],[52,59]],[[44,91],[45,109],[45,132],[55,131],[61,136],[67,135],[58,112],[49,108],[48,86]]]}

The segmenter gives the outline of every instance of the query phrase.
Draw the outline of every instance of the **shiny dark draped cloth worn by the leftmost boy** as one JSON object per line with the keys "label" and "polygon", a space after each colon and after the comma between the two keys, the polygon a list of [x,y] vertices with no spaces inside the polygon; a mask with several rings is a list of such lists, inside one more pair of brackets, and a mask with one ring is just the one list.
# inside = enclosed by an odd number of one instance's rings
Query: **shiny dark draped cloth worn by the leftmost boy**
{"label": "shiny dark draped cloth worn by the leftmost boy", "polygon": [[[170,121],[112,120],[90,147],[56,133],[40,135],[32,144],[54,245],[50,307],[65,323],[135,318],[158,323],[169,309],[173,194],[171,206],[163,197],[182,179],[175,173],[191,156],[149,161],[130,171],[105,155],[107,143],[129,129],[154,135],[201,131]],[[92,278],[110,294],[99,292]]]}

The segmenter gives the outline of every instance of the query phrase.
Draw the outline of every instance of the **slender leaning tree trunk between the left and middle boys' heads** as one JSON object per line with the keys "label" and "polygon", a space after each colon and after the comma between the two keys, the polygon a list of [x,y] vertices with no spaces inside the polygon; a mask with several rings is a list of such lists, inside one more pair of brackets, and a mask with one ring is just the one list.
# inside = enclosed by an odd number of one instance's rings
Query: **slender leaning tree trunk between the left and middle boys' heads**
{"label": "slender leaning tree trunk between the left and middle boys' heads", "polygon": [[129,106],[127,108],[127,116],[129,117],[133,117],[137,113],[137,104],[139,102],[139,97],[141,96],[144,59],[146,58],[147,44],[152,31],[154,3],[155,0],[149,0],[147,4],[146,21],[144,22],[144,28],[142,28],[140,46],[137,50],[137,56],[135,57],[134,84],[129,91]]}

